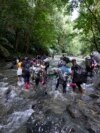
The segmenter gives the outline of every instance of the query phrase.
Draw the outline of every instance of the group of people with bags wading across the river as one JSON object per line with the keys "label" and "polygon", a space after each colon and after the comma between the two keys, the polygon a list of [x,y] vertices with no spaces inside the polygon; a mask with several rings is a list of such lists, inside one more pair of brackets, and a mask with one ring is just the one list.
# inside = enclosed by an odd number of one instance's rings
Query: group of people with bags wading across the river
{"label": "group of people with bags wading across the river", "polygon": [[[51,61],[47,56],[38,55],[31,59],[28,57],[18,58],[16,63],[18,86],[24,86],[28,90],[30,84],[34,84],[33,89],[37,89],[39,85],[45,86],[48,84],[49,76],[54,76],[56,77],[55,90],[61,85],[62,92],[66,93],[67,86],[70,86],[74,92],[78,90],[81,94],[83,93],[81,84],[87,82],[88,76],[93,76],[93,70],[98,66],[93,56],[85,59],[85,68],[77,64],[76,59],[70,60],[64,55],[59,59],[56,67],[52,68]],[[68,83],[69,77],[70,84]]]}

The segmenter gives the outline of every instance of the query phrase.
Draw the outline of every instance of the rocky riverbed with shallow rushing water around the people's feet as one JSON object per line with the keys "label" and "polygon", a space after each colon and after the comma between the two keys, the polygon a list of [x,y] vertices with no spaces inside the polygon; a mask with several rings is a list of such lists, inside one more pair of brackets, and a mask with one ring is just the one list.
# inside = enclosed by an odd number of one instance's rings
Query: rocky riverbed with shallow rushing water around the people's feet
{"label": "rocky riverbed with shallow rushing water around the people's feet", "polygon": [[54,78],[45,94],[43,87],[18,88],[16,80],[15,69],[0,66],[0,133],[100,133],[100,90],[94,83],[83,85],[83,95],[63,94]]}

